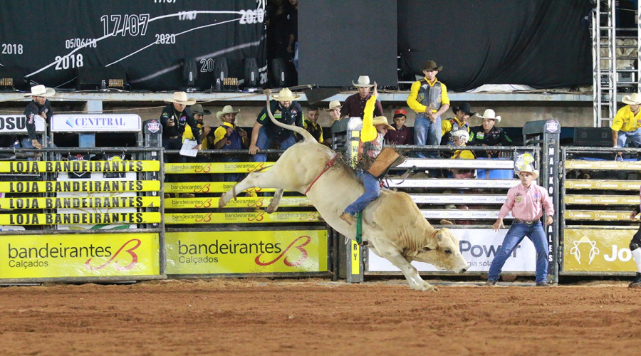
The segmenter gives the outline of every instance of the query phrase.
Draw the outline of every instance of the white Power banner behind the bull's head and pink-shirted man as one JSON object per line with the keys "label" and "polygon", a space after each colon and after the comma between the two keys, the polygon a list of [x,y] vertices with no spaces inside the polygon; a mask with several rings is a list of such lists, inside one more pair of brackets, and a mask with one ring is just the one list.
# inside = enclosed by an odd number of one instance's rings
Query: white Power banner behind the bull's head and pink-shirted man
{"label": "white Power banner behind the bull's head and pink-shirted man", "polygon": [[[498,232],[491,229],[450,229],[459,239],[461,252],[469,263],[468,272],[487,272],[492,259],[503,244],[508,229]],[[368,256],[370,272],[400,272],[390,261],[371,252]],[[434,266],[423,262],[412,262],[418,271],[439,271]],[[503,266],[504,272],[534,272],[536,271],[536,250],[532,241],[527,237],[518,244]]]}

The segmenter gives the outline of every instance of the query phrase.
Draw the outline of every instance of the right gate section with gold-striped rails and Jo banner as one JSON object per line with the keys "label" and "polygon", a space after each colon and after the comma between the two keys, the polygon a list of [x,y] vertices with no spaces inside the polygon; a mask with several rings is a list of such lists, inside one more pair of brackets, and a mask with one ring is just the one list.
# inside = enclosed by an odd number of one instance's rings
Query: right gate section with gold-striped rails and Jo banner
{"label": "right gate section with gold-striped rails and Jo banner", "polygon": [[[641,162],[634,148],[564,147],[561,274],[632,276]],[[620,155],[619,155],[620,153]]]}

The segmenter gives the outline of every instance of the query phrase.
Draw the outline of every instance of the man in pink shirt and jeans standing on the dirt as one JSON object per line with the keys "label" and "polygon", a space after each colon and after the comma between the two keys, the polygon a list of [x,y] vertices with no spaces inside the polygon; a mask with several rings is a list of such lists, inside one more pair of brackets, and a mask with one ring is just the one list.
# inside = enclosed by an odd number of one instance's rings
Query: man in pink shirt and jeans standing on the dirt
{"label": "man in pink shirt and jeans standing on the dirt", "polygon": [[552,224],[554,206],[546,189],[538,186],[535,182],[538,178],[538,170],[533,169],[530,164],[523,164],[518,168],[516,174],[521,179],[521,184],[509,189],[507,199],[499,211],[499,219],[496,219],[492,227],[494,231],[504,228],[503,219],[510,211],[514,216],[514,221],[512,221],[503,244],[492,260],[485,285],[496,285],[505,261],[516,246],[523,241],[523,237],[528,236],[536,249],[536,286],[547,287],[550,286],[546,281],[548,276],[548,239],[546,239],[546,231],[541,225],[541,216],[543,216],[543,208],[545,208],[545,224]]}

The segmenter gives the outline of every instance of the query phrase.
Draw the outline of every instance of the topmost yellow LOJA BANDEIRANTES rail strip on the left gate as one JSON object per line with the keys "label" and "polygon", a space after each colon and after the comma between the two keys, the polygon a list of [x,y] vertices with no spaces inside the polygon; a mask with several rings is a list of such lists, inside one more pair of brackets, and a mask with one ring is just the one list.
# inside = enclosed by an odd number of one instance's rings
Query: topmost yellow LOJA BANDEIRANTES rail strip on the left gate
{"label": "topmost yellow LOJA BANDEIRANTES rail strip on the left gate", "polygon": [[15,161],[0,162],[0,173],[158,172],[158,161]]}

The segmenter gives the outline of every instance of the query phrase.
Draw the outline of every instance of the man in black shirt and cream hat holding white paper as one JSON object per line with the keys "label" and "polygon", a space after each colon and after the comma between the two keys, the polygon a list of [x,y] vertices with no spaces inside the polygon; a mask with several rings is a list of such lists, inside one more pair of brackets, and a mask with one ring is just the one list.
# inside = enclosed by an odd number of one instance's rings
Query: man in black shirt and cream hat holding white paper
{"label": "man in black shirt and cream hat holding white paper", "polygon": [[[187,108],[187,105],[194,105],[195,100],[188,100],[187,93],[182,91],[175,92],[171,99],[165,100],[168,103],[162,109],[160,114],[160,123],[162,124],[162,147],[165,150],[180,150],[182,147],[182,134],[185,127],[189,125],[192,132],[199,132],[198,124],[194,120],[192,110]],[[196,150],[202,149],[202,141],[200,135],[195,135]],[[182,155],[167,155],[165,154],[165,163],[184,163],[187,162],[187,157]],[[185,182],[185,177],[177,174],[167,174],[168,180],[173,182]],[[169,194],[165,194],[169,197]],[[194,194],[183,193],[180,194],[183,198],[192,198]]]}

